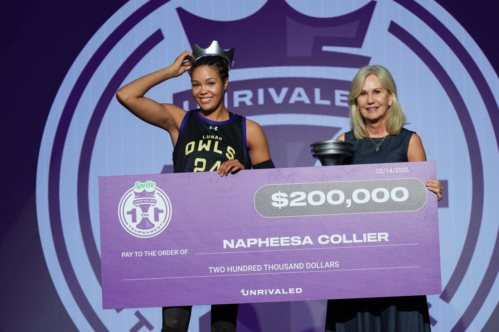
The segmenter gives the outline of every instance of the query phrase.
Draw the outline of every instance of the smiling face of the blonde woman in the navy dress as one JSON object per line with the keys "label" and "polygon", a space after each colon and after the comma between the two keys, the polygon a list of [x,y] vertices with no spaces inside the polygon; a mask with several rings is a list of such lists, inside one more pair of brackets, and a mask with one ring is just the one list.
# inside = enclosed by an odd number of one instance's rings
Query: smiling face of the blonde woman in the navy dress
{"label": "smiling face of the blonde woman in the navy dress", "polygon": [[383,88],[378,76],[367,76],[357,97],[357,107],[366,123],[384,120],[392,102],[392,94]]}

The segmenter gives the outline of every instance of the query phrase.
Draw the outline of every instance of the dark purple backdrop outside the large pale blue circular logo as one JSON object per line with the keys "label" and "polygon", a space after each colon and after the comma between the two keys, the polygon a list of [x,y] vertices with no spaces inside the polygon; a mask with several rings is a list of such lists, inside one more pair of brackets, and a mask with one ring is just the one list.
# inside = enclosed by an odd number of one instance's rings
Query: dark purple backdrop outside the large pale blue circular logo
{"label": "dark purple backdrop outside the large pale blue circular logo", "polygon": [[[8,1],[2,4],[2,173],[15,179],[2,205],[0,331],[77,331],[45,266],[34,184],[44,123],[62,79],[95,31],[126,1]],[[499,72],[498,5],[438,0],[468,30]],[[491,6],[494,6],[491,8]],[[487,33],[484,33],[487,31]],[[10,181],[6,181],[10,183]],[[4,195],[6,197],[6,195]],[[499,307],[483,331],[496,331]]]}

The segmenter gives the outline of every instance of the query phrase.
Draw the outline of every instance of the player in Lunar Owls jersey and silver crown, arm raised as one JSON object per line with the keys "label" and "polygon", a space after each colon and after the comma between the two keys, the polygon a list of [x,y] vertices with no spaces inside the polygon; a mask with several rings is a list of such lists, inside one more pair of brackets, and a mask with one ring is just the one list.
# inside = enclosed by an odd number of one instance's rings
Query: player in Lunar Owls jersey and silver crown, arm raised
{"label": "player in Lunar Owls jersey and silver crown, arm raised", "polygon": [[[220,176],[252,168],[274,168],[268,143],[258,123],[227,110],[234,48],[224,51],[217,41],[207,49],[194,45],[194,56],[182,52],[173,64],[143,76],[116,93],[118,101],[140,119],[170,134],[174,172],[217,171]],[[198,110],[185,111],[144,95],[154,86],[190,70],[192,96]],[[234,332],[238,304],[213,305],[211,331]],[[162,332],[186,332],[191,306],[164,307]]]}

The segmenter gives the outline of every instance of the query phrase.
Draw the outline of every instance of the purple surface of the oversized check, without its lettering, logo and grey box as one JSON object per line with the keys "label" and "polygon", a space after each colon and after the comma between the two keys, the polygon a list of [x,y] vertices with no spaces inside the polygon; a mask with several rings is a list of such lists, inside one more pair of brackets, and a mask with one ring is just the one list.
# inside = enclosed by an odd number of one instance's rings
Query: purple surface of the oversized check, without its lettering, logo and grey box
{"label": "purple surface of the oversized check, without its lettering, logo and grey box", "polygon": [[[376,172],[394,167],[408,167],[409,172]],[[241,171],[222,179],[215,172],[100,177],[103,308],[440,294],[437,200],[431,193],[427,196],[423,185],[426,203],[416,211],[264,218],[255,209],[255,193],[268,184],[401,178],[426,183],[435,175],[435,162],[417,162]],[[125,193],[137,181],[155,182],[171,201],[171,221],[156,236],[134,236],[120,223],[118,206],[121,214],[122,197],[129,196]],[[409,193],[408,202],[415,197]],[[389,234],[388,241],[321,244],[317,240],[321,235],[346,234],[348,239],[352,234],[360,238],[363,233],[380,232]],[[313,244],[223,245],[224,239],[280,236],[309,236]],[[179,253],[158,255],[162,250]],[[304,268],[265,268],[286,263],[303,263]],[[307,268],[306,263],[323,267]],[[248,265],[260,265],[261,270],[229,271]],[[226,270],[214,272],[210,267]],[[273,289],[301,292],[245,295],[249,290]]]}

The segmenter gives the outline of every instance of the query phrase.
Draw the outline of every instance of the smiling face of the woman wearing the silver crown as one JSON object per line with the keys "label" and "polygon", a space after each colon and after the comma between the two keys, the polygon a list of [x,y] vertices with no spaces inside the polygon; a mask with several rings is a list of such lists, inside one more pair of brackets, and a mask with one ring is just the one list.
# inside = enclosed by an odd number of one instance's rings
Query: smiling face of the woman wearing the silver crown
{"label": "smiling face of the woman wearing the silver crown", "polygon": [[222,82],[217,70],[210,66],[197,67],[191,73],[192,96],[203,111],[224,107],[225,89],[229,80]]}

